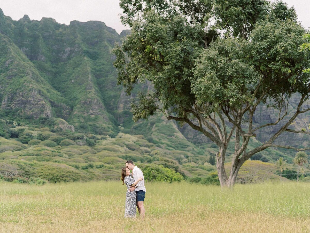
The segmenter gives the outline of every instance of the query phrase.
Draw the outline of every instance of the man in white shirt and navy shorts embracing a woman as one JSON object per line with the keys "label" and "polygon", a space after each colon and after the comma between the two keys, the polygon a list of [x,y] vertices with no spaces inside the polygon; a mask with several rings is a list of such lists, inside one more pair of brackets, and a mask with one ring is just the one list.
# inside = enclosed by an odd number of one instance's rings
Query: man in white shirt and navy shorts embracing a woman
{"label": "man in white shirt and navy shorts embracing a woman", "polygon": [[138,178],[140,176],[142,176],[142,178],[143,178],[143,180],[139,181],[135,187],[131,187],[129,190],[130,191],[136,190],[138,211],[139,211],[141,218],[144,218],[145,209],[143,206],[143,202],[144,202],[146,189],[144,186],[143,172],[141,171],[141,169],[139,167],[135,166],[135,164],[134,164],[134,162],[132,162],[132,160],[128,160],[126,162],[126,167],[128,167],[130,170],[132,170],[132,175],[133,175],[135,180],[138,180]]}

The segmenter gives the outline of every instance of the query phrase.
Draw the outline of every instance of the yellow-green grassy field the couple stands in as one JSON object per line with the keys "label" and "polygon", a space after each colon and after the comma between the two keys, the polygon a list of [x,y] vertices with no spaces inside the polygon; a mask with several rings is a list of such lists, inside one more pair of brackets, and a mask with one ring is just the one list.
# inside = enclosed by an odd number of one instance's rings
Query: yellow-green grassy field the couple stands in
{"label": "yellow-green grassy field the couple stands in", "polygon": [[309,232],[310,185],[147,183],[144,220],[124,219],[121,182],[0,182],[0,232]]}

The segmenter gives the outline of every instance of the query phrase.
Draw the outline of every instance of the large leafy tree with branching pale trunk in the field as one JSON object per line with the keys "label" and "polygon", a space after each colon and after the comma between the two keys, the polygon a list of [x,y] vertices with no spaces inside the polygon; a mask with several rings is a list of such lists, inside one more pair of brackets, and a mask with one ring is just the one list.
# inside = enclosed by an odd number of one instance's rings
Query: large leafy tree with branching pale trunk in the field
{"label": "large leafy tree with branching pale trunk in the field", "polygon": [[[293,8],[265,0],[121,0],[122,22],[131,27],[116,46],[118,84],[130,94],[138,82],[153,91],[132,103],[133,119],[161,111],[187,123],[218,146],[216,167],[222,186],[232,186],[242,164],[268,147],[296,117],[310,110],[309,55],[299,52],[305,33]],[[288,117],[290,96],[300,96]],[[261,103],[279,111],[275,122],[253,124]],[[266,104],[267,105],[267,104]],[[263,144],[247,149],[256,130],[281,124]],[[234,143],[230,171],[224,168]]]}

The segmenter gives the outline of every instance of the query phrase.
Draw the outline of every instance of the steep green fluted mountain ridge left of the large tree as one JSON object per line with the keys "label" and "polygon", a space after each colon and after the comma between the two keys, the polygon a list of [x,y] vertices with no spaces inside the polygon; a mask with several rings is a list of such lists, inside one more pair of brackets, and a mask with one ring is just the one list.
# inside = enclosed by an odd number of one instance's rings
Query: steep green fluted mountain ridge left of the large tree
{"label": "steep green fluted mountain ridge left of the large tree", "polygon": [[115,30],[98,21],[13,21],[2,11],[0,21],[2,110],[60,117],[96,134],[117,131],[121,88],[109,54],[120,42]]}

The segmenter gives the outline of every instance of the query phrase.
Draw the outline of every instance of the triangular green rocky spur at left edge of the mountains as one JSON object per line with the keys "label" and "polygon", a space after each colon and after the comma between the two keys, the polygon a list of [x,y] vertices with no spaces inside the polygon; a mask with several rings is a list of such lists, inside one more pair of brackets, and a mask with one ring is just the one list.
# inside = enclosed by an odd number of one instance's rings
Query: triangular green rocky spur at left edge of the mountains
{"label": "triangular green rocky spur at left edge of the mountains", "polygon": [[[0,34],[2,71],[0,75],[1,109],[17,109],[34,118],[55,117],[52,105],[61,105],[68,111],[60,93],[42,78],[29,59],[7,36]],[[62,116],[64,117],[64,116]]]}

